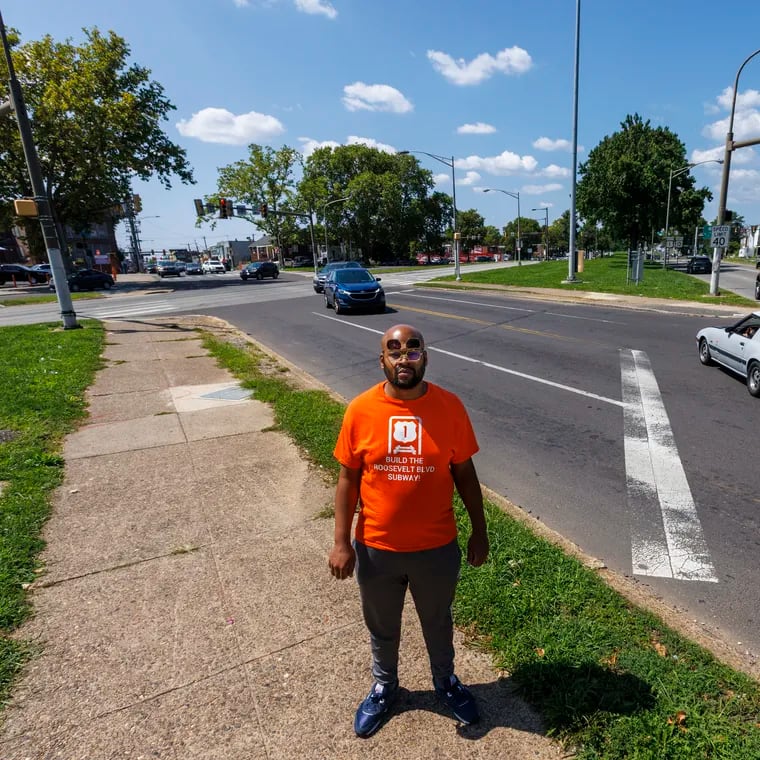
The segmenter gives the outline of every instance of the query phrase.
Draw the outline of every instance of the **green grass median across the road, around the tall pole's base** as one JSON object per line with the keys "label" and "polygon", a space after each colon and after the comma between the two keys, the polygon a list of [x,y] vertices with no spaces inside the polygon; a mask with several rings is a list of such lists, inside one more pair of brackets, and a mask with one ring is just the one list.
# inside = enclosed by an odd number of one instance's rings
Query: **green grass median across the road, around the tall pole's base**
{"label": "green grass median across the road, around the tall pole's base", "polygon": [[[487,269],[482,272],[468,272],[463,268],[462,282],[522,288],[555,288],[568,292],[617,293],[731,306],[756,305],[755,301],[727,290],[722,290],[719,296],[711,296],[707,282],[692,277],[683,270],[664,268],[662,264],[654,261],[644,263],[644,274],[639,283],[627,282],[628,259],[625,253],[589,259],[584,262],[583,272],[578,273],[578,282],[575,283],[563,282],[567,278],[567,267],[567,261],[542,261],[523,266]],[[433,284],[453,279],[454,277],[449,275],[434,280]]]}

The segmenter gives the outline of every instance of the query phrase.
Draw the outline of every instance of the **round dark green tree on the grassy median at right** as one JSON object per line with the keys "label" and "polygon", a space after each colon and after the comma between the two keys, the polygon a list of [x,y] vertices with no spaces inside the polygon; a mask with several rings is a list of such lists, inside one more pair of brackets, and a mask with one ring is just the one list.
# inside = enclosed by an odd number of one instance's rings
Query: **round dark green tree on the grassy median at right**
{"label": "round dark green tree on the grassy median at right", "polygon": [[[592,225],[602,222],[613,238],[636,247],[652,230],[664,229],[670,172],[688,162],[684,144],[667,127],[654,128],[638,114],[628,115],[620,127],[581,164],[578,210]],[[710,191],[695,189],[688,172],[670,184],[670,226],[696,223]]]}

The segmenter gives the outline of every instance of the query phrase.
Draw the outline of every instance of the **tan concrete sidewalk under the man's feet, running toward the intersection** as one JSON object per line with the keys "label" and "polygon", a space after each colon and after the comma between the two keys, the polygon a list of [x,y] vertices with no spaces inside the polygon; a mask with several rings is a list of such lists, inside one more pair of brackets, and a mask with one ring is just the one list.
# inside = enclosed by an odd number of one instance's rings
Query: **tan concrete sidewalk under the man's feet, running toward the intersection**
{"label": "tan concrete sidewalk under the man's feet, running toward the intersection", "polygon": [[[407,609],[401,699],[353,734],[370,686],[353,581],[327,570],[332,488],[217,367],[207,318],[112,322],[90,418],[65,443],[39,643],[5,711],[4,760],[560,758],[489,658],[457,643],[483,721],[438,706]],[[237,340],[242,340],[240,336]]]}

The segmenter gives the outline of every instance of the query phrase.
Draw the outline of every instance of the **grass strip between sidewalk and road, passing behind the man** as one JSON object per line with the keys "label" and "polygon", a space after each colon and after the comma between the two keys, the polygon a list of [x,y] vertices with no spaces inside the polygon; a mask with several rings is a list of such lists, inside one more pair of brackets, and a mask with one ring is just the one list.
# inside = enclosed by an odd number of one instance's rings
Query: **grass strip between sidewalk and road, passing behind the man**
{"label": "grass strip between sidewalk and road, passing behind the man", "polygon": [[[210,336],[206,348],[331,475],[344,407],[273,373],[266,355]],[[273,377],[273,374],[276,375]],[[467,518],[457,499],[460,536]],[[491,555],[464,565],[454,614],[549,733],[583,760],[760,757],[760,686],[717,661],[592,570],[486,503]]]}

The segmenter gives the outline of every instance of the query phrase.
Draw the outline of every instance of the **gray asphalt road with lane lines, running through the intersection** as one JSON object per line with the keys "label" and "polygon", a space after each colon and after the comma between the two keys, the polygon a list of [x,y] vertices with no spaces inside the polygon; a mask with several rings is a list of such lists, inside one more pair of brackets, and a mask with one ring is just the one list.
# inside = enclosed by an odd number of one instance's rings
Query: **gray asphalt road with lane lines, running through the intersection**
{"label": "gray asphalt road with lane lines, running through the intersection", "polygon": [[[753,270],[739,269],[754,281]],[[429,379],[470,410],[485,484],[726,640],[760,652],[760,474],[750,462],[760,407],[740,380],[702,367],[694,342],[700,327],[729,320],[699,309],[415,289],[416,276],[383,278],[384,315],[336,317],[308,278],[288,272],[261,283],[183,278],[182,288],[161,283],[168,292],[76,308],[99,319],[214,314],[346,398],[381,378],[379,335],[413,322],[428,341]],[[55,319],[55,310],[6,309],[0,324]],[[631,417],[631,398],[641,420]],[[648,440],[637,438],[645,418]],[[642,452],[654,472],[643,489]]]}

